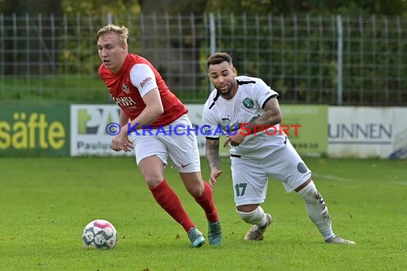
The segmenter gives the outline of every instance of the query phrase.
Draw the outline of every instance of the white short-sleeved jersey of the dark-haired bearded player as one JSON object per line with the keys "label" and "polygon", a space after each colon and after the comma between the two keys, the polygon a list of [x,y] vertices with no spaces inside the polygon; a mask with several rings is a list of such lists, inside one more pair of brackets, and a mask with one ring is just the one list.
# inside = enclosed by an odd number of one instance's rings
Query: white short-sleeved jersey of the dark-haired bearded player
{"label": "white short-sleeved jersey of the dark-haired bearded player", "polygon": [[[238,90],[231,100],[222,98],[214,89],[206,101],[202,114],[206,138],[216,139],[222,135],[235,134],[236,128],[240,127],[241,123],[249,123],[253,118],[261,116],[266,102],[278,97],[278,93],[267,86],[261,78],[236,76],[236,81]],[[229,144],[231,147],[229,152],[241,155],[242,158],[262,159],[282,148],[286,140],[286,134],[277,124],[268,128],[267,132],[260,131],[246,136],[238,146]]]}

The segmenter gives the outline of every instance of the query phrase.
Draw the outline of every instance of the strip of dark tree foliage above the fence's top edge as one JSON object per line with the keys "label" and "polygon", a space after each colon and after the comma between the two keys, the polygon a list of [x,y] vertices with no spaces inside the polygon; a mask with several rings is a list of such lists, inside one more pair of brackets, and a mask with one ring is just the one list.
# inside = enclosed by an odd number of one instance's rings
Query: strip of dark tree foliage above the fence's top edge
{"label": "strip of dark tree foliage above the fence's top edge", "polygon": [[191,12],[407,16],[406,0],[0,0],[1,14],[169,14]]}

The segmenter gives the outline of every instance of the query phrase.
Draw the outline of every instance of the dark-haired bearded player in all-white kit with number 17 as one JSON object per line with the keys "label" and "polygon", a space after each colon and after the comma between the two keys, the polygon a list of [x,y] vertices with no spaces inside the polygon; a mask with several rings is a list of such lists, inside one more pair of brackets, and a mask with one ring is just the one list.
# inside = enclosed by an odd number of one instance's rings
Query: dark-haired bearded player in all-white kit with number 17
{"label": "dark-haired bearded player in all-white kit with number 17", "polygon": [[[211,168],[209,183],[221,175],[219,137],[230,145],[233,193],[238,215],[253,225],[245,240],[263,240],[272,223],[260,204],[266,199],[268,175],[283,183],[287,193],[296,191],[308,216],[328,243],[353,245],[336,236],[328,208],[311,180],[311,171],[281,131],[278,93],[260,78],[236,76],[231,56],[214,53],[208,58],[208,77],[215,89],[204,106],[206,160]],[[273,126],[273,127],[272,127]],[[277,131],[277,132],[276,132]]]}

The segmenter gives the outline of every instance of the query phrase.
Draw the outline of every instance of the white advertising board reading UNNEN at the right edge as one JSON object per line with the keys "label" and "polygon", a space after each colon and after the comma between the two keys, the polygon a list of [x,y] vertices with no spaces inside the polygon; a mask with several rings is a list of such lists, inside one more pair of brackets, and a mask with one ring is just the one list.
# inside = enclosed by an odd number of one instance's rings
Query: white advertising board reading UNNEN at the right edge
{"label": "white advertising board reading UNNEN at the right edge", "polygon": [[406,158],[407,108],[328,108],[328,155]]}

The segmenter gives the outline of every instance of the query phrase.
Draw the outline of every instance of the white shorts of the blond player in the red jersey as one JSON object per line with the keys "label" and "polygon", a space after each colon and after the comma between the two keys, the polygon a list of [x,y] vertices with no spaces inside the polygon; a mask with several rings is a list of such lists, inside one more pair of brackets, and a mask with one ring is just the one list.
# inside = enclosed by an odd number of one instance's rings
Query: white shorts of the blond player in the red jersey
{"label": "white shorts of the blond player in the red jersey", "polygon": [[139,135],[131,133],[137,165],[143,158],[156,155],[165,165],[168,157],[171,158],[174,167],[181,173],[200,172],[196,136],[194,131],[187,130],[191,126],[188,116],[183,115],[169,126],[149,130],[144,135],[142,130],[137,131]]}

